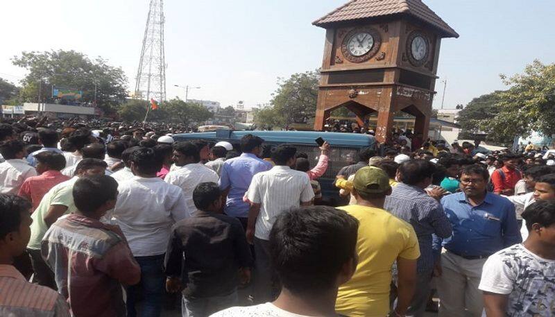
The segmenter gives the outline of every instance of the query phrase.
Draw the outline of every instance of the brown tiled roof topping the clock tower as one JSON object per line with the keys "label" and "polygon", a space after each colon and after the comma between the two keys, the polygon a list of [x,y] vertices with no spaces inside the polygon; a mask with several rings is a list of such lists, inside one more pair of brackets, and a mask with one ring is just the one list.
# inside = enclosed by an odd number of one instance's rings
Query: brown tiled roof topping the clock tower
{"label": "brown tiled roof topping the clock tower", "polygon": [[441,17],[421,0],[352,0],[312,24],[326,28],[338,22],[373,19],[392,15],[409,15],[437,28],[445,37],[459,37]]}

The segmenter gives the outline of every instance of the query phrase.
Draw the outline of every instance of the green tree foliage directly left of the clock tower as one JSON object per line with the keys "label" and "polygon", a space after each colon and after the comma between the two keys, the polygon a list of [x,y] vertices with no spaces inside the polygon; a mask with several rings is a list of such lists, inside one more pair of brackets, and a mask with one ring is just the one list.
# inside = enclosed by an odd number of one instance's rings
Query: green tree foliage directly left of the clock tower
{"label": "green tree foliage directly left of the clock tower", "polygon": [[285,128],[291,123],[307,123],[316,115],[319,71],[293,74],[287,80],[278,78],[278,89],[273,94],[271,108],[255,114],[257,126]]}

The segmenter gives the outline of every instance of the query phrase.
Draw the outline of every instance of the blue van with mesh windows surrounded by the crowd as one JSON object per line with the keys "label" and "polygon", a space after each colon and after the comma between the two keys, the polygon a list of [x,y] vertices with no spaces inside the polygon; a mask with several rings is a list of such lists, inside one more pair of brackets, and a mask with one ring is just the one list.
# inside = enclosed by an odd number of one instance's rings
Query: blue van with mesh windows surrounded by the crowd
{"label": "blue van with mesh windows surrounded by the crowd", "polygon": [[322,187],[324,200],[330,205],[338,205],[340,202],[339,189],[334,187],[333,182],[339,170],[346,165],[358,161],[358,152],[361,148],[375,147],[377,142],[371,135],[338,132],[316,132],[316,131],[232,131],[217,130],[215,132],[183,133],[173,135],[173,139],[180,141],[193,141],[202,139],[207,142],[230,142],[238,153],[239,141],[244,135],[257,135],[264,139],[265,145],[278,146],[280,144],[291,144],[296,146],[298,152],[307,153],[312,167],[316,166],[320,149],[316,139],[322,137],[330,143],[330,162],[325,174],[318,178]]}

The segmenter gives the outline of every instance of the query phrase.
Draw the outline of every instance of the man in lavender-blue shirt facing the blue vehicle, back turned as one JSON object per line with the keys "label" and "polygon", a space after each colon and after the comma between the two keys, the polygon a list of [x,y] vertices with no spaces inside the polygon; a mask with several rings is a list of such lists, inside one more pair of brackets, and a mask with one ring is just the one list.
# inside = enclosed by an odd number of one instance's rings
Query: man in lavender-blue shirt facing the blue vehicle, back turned
{"label": "man in lavender-blue shirt facing the blue vehicle, back turned", "polygon": [[248,209],[250,205],[243,201],[243,196],[256,173],[269,171],[272,164],[258,157],[262,151],[264,139],[255,135],[245,135],[241,138],[243,154],[223,163],[220,175],[220,189],[227,196],[225,214],[241,221],[246,230]]}

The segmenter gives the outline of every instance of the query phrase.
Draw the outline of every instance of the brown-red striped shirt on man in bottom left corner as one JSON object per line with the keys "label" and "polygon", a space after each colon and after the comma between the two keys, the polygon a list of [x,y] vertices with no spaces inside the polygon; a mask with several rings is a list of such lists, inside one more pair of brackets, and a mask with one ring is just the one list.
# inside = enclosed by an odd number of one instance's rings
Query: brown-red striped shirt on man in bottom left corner
{"label": "brown-red striped shirt on man in bottom left corner", "polygon": [[0,265],[0,316],[69,317],[69,309],[56,291],[27,282],[11,265]]}

